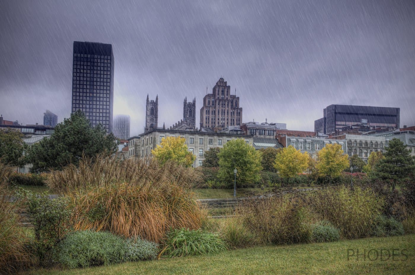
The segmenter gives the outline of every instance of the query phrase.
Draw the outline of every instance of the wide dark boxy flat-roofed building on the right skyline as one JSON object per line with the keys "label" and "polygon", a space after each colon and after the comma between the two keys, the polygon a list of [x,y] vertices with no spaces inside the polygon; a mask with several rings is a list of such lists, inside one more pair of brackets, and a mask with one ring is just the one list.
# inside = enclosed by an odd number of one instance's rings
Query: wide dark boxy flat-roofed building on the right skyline
{"label": "wide dark boxy flat-roofed building on the right skyline", "polygon": [[367,125],[370,130],[393,130],[399,128],[399,119],[399,108],[333,104],[323,110],[323,118],[314,121],[314,130],[329,134],[355,124]]}

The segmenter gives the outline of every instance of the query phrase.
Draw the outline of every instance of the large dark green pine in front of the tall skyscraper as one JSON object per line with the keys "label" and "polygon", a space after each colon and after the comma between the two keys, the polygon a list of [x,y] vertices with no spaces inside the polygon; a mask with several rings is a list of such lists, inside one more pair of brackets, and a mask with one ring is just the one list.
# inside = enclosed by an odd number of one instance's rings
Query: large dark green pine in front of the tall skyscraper
{"label": "large dark green pine in front of the tall skyscraper", "polygon": [[33,171],[60,170],[68,164],[78,165],[83,155],[95,157],[100,152],[116,152],[117,141],[105,128],[90,126],[88,119],[78,110],[55,127],[54,133],[29,148],[28,159]]}

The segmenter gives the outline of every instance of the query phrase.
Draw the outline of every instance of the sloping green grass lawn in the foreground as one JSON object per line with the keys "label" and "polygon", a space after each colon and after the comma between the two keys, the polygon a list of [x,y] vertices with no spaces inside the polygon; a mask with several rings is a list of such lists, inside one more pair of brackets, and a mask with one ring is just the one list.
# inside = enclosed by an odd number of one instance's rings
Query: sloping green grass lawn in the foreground
{"label": "sloping green grass lawn in the foreground", "polygon": [[[359,249],[362,254],[372,250],[371,259],[376,252],[378,260],[363,260],[360,256],[347,259],[352,251]],[[383,249],[383,250],[382,250]],[[385,261],[383,255],[392,255]],[[402,249],[406,256],[402,256]],[[399,255],[399,256],[398,256]],[[185,258],[162,259],[122,263],[73,270],[34,270],[26,275],[144,275],[144,274],[415,274],[415,235],[386,238],[365,238],[337,241],[323,244],[295,244],[284,246],[263,246],[225,251],[210,256],[189,256]]]}

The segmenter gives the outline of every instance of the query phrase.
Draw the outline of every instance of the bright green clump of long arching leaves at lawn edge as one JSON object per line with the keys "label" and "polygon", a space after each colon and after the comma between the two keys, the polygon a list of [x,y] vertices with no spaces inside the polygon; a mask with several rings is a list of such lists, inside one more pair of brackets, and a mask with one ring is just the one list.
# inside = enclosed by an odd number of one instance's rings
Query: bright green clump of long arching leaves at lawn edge
{"label": "bright green clump of long arching leaves at lawn edge", "polygon": [[183,257],[188,255],[205,255],[226,250],[226,244],[218,234],[201,229],[173,229],[167,234],[166,246],[159,257]]}

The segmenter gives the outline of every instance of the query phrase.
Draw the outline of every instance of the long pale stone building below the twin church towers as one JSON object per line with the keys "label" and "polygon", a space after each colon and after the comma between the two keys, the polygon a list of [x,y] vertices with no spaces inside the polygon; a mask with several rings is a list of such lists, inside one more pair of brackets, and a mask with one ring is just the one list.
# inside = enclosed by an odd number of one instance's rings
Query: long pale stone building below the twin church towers
{"label": "long pale stone building below the twin church towers", "polygon": [[[184,137],[188,150],[196,156],[193,167],[202,166],[205,159],[204,154],[210,148],[222,148],[226,142],[242,138],[249,145],[253,145],[253,137],[249,135],[238,135],[232,133],[215,133],[202,131],[181,131],[168,129],[151,129],[137,137],[131,137],[128,141],[132,142],[130,156],[146,158],[151,156],[151,150],[160,145],[163,137]],[[129,143],[130,144],[130,143]]]}

